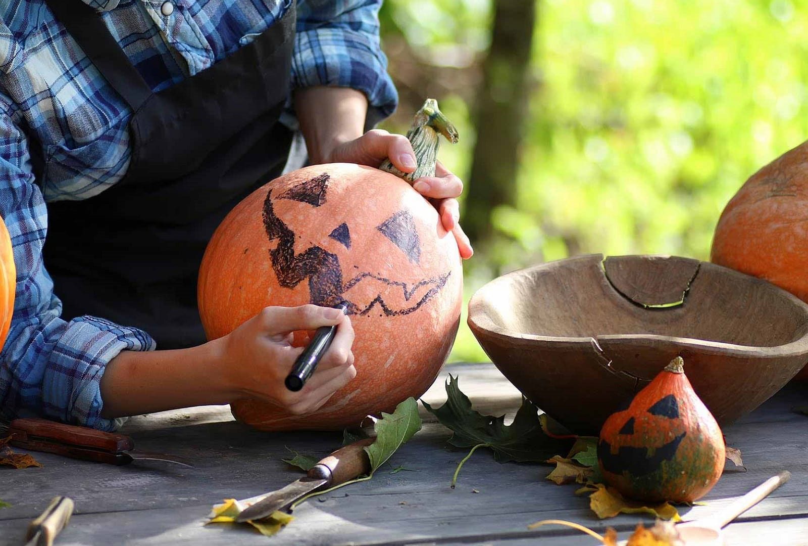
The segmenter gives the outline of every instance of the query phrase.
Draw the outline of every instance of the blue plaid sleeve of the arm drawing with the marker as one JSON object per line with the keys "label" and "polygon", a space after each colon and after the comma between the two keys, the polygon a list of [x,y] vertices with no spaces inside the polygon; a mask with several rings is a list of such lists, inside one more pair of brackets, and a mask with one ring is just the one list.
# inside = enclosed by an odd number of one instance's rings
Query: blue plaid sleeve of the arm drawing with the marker
{"label": "blue plaid sleeve of the arm drawing with the marker", "polygon": [[0,96],[0,215],[17,269],[14,315],[0,352],[0,414],[115,430],[122,420],[101,417],[103,371],[121,350],[154,349],[154,341],[137,328],[95,317],[61,318],[42,263],[48,214],[11,108]]}

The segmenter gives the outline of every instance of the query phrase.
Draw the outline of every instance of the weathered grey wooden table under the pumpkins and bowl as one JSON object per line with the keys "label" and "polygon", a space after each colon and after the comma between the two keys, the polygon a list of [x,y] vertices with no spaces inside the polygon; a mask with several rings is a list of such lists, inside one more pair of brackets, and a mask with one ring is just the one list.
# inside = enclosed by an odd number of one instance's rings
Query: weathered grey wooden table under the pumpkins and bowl
{"label": "weathered grey wooden table under the pumpkins and bowl", "polygon": [[[424,399],[441,404],[448,371],[482,413],[513,414],[520,394],[490,364],[447,366]],[[700,518],[726,505],[769,476],[790,470],[789,483],[727,527],[729,544],[808,544],[808,417],[793,413],[808,404],[808,386],[787,387],[755,413],[725,430],[743,451],[747,472],[726,472],[706,506],[680,510]],[[595,544],[564,527],[528,524],[561,518],[625,538],[642,516],[595,518],[574,485],[545,480],[550,468],[494,462],[479,450],[449,488],[465,451],[446,447],[449,432],[422,412],[423,430],[393,455],[370,481],[305,502],[295,520],[267,538],[250,527],[205,526],[213,504],[276,489],[301,474],[281,461],[285,447],[325,454],[340,434],[266,434],[230,416],[227,406],[206,406],[135,417],[124,432],[137,447],[196,460],[195,469],[167,463],[124,467],[35,454],[44,468],[0,468],[0,545],[23,544],[28,522],[56,495],[72,497],[76,512],[57,544]],[[389,473],[398,465],[410,471]]]}

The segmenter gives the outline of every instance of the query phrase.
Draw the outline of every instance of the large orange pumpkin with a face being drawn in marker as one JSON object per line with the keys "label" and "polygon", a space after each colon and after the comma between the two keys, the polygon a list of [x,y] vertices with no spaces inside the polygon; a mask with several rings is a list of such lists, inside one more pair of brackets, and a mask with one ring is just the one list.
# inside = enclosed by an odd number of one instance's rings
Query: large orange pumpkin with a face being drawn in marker
{"label": "large orange pumpkin with a face being drawn in marker", "polygon": [[453,235],[402,178],[333,163],[272,180],[208,243],[198,286],[205,332],[224,336],[266,306],[345,303],[356,378],[315,413],[239,400],[234,416],[261,430],[339,430],[422,395],[452,348],[462,281]]}

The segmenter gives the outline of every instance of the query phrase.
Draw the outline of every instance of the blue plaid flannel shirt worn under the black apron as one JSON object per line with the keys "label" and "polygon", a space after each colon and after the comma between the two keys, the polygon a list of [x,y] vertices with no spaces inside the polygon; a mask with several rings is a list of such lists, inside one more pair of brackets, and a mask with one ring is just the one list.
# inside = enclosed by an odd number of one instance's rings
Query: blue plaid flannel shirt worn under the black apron
{"label": "blue plaid flannel shirt worn under the black apron", "polygon": [[[249,43],[290,4],[172,0],[165,16],[162,0],[83,1],[102,12],[155,91]],[[389,115],[398,97],[379,44],[380,4],[298,0],[292,86],[353,87]],[[0,214],[17,267],[14,317],[0,353],[0,418],[42,415],[114,430],[121,420],[100,417],[104,366],[121,350],[154,349],[154,341],[103,318],[61,317],[41,251],[48,201],[92,197],[126,173],[131,112],[44,0],[8,0],[0,13]],[[44,155],[41,180],[32,173],[34,141]]]}

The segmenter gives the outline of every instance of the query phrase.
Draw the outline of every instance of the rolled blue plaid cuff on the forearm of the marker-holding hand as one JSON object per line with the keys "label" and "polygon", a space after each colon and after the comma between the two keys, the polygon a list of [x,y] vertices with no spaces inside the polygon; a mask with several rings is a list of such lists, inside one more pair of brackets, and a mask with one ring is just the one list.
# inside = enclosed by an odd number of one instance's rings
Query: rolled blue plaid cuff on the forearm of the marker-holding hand
{"label": "rolled blue plaid cuff on the forearm of the marker-holding hand", "polygon": [[[62,323],[64,324],[64,323]],[[82,316],[65,324],[42,381],[44,413],[59,421],[112,431],[124,418],[101,417],[101,376],[120,351],[154,350],[154,340],[137,328]]]}

